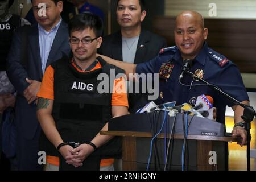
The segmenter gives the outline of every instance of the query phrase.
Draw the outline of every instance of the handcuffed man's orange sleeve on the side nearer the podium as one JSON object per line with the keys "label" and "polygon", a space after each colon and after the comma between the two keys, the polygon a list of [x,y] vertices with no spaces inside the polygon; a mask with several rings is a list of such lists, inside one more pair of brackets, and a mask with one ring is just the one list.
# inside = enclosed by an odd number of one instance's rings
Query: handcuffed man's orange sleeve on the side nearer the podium
{"label": "handcuffed man's orange sleeve on the side nearer the podium", "polygon": [[126,90],[126,81],[123,77],[117,78],[114,81],[111,105],[129,107]]}

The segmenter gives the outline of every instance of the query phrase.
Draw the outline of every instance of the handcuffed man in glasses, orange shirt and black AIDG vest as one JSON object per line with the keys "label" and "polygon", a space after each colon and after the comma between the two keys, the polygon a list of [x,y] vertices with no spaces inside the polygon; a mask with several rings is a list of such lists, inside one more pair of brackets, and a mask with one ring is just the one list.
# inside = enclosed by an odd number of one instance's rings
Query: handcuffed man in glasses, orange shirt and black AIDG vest
{"label": "handcuffed man in glasses, orange shirt and black AIDG vest", "polygon": [[119,138],[100,134],[108,130],[110,118],[125,115],[128,109],[123,77],[107,79],[113,85],[104,85],[107,92],[99,89],[99,75],[110,77],[112,70],[115,76],[123,73],[96,58],[102,30],[98,16],[76,15],[69,23],[73,57],[63,57],[44,73],[37,115],[48,170],[112,170],[113,158],[122,155]]}

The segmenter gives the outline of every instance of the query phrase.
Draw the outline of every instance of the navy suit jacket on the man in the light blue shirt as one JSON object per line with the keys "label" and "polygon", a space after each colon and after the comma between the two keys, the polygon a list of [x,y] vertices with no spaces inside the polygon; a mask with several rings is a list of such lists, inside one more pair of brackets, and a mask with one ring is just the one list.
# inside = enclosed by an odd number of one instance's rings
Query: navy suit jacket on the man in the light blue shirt
{"label": "navy suit jacket on the man in the light blue shirt", "polygon": [[[41,82],[43,77],[40,59],[38,24],[35,23],[28,29],[26,67],[23,67],[21,63],[21,36],[22,28],[14,32],[13,42],[7,58],[7,75],[15,89],[18,91],[15,106],[18,130],[21,131],[27,139],[32,139],[39,127],[39,122],[36,118],[36,105],[28,105],[26,98],[23,96],[23,92],[29,85],[25,78]],[[63,54],[69,55],[70,46],[68,36],[68,26],[66,23],[61,22],[52,43],[46,68],[48,65],[53,63],[53,61],[60,59]]]}

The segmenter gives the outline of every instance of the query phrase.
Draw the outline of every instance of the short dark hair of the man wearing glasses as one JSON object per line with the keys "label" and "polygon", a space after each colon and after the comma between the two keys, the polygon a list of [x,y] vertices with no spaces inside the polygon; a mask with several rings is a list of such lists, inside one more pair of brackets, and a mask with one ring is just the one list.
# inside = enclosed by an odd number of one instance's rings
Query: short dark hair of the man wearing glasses
{"label": "short dark hair of the man wearing glasses", "polygon": [[97,38],[102,36],[103,22],[100,16],[92,13],[81,13],[75,15],[68,24],[69,36],[72,31],[85,30],[86,28],[92,28]]}

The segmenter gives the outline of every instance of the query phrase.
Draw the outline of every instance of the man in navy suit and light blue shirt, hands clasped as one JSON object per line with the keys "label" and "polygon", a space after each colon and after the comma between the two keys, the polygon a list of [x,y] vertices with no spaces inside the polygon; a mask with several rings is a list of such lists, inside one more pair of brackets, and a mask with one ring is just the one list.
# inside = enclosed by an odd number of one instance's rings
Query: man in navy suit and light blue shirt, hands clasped
{"label": "man in navy suit and light blue shirt, hands clasped", "polygon": [[[38,6],[40,3],[42,7]],[[18,91],[15,106],[18,170],[42,169],[38,164],[41,128],[36,118],[36,94],[48,65],[70,52],[68,27],[60,16],[63,2],[33,0],[32,6],[38,23],[28,28],[27,45],[22,43],[24,30],[15,32],[7,59],[7,75]]]}

